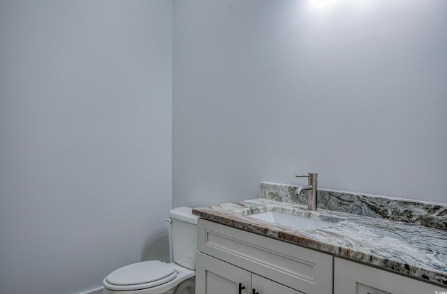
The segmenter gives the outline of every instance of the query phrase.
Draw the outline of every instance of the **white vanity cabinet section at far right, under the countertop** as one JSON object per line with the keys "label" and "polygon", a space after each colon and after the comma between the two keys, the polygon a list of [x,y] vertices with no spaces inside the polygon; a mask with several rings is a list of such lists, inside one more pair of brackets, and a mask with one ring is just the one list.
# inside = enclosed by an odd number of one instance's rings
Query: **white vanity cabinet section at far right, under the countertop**
{"label": "white vanity cabinet section at far right, under the countertop", "polygon": [[434,286],[376,267],[334,258],[334,294],[412,294],[447,293]]}

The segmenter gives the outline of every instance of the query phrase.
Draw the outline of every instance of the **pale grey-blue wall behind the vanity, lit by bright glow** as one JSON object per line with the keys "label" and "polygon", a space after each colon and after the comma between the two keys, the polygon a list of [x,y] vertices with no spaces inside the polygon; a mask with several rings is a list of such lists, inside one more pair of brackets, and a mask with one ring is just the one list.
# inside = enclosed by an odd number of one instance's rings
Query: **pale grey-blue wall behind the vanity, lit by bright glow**
{"label": "pale grey-blue wall behind the vanity, lit by bright glow", "polygon": [[315,4],[174,1],[173,206],[307,172],[447,203],[447,1]]}

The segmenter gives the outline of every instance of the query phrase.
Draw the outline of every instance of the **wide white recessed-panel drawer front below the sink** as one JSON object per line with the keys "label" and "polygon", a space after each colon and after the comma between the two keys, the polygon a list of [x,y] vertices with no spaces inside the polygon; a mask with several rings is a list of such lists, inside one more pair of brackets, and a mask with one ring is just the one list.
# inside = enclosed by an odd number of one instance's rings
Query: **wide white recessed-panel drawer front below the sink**
{"label": "wide white recessed-panel drawer front below the sink", "polygon": [[198,220],[198,251],[303,293],[332,293],[329,254]]}

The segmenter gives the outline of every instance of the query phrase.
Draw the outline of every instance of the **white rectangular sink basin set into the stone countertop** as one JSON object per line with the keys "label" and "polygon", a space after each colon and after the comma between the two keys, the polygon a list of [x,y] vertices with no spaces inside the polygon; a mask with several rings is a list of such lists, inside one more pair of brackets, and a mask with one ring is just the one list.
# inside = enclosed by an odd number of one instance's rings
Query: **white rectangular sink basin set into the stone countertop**
{"label": "white rectangular sink basin set into the stone countertop", "polygon": [[251,219],[260,219],[261,221],[268,221],[270,223],[277,223],[279,225],[299,228],[300,230],[315,230],[330,226],[332,223],[342,221],[342,219],[330,218],[328,221],[322,219],[315,219],[308,216],[298,216],[294,214],[287,214],[284,212],[261,212],[258,214],[251,214],[247,216]]}

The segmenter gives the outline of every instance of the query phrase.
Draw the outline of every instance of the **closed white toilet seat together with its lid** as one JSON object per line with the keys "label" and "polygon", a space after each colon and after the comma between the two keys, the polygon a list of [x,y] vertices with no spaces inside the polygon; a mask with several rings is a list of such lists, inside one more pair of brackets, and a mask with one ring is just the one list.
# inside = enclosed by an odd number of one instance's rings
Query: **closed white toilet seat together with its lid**
{"label": "closed white toilet seat together with its lid", "polygon": [[177,277],[173,267],[159,260],[149,260],[120,267],[103,280],[106,288],[135,291],[166,284]]}

